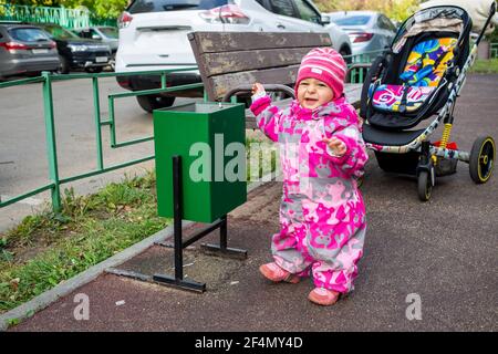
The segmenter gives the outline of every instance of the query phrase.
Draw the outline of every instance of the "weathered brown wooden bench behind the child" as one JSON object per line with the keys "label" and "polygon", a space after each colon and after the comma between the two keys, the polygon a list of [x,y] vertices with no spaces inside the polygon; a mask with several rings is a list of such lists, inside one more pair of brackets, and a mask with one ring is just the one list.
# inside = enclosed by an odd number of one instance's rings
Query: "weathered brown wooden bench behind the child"
{"label": "weathered brown wooden bench behind the child", "polygon": [[[249,96],[255,82],[262,83],[267,91],[281,87],[269,84],[293,87],[302,56],[313,48],[332,45],[326,33],[191,32],[188,40],[211,102],[222,101],[234,90],[238,95]],[[361,85],[346,84],[344,92],[357,107]],[[274,101],[274,104],[287,106],[290,100]],[[249,110],[246,110],[246,127],[256,128]]]}

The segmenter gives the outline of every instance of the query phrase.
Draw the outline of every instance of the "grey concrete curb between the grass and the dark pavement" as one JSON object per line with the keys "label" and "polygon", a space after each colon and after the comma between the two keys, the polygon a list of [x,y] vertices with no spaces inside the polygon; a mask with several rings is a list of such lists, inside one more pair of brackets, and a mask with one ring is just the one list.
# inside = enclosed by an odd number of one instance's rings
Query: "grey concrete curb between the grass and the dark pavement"
{"label": "grey concrete curb between the grass and the dark pavement", "polygon": [[[261,181],[250,184],[247,187],[247,192],[249,194],[250,191],[267,184],[268,181],[274,180],[272,178],[278,179],[279,176],[280,175],[274,176],[273,174],[263,176],[261,178]],[[186,228],[194,223],[196,223],[196,222],[184,220],[181,222],[181,227]],[[60,298],[65,296],[65,295],[72,293],[77,288],[83,287],[84,284],[95,280],[98,275],[101,275],[103,272],[105,272],[106,269],[120,266],[120,264],[126,262],[127,260],[132,259],[133,257],[142,253],[149,247],[154,246],[154,243],[165,241],[166,239],[172,238],[172,237],[173,237],[173,225],[170,225],[166,229],[163,229],[163,230],[154,233],[153,236],[142,240],[141,242],[135,243],[132,247],[128,247],[127,249],[106,259],[105,261],[103,261],[98,264],[95,264],[92,268],[89,268],[87,270],[83,271],[82,273],[60,283],[55,288],[53,288],[49,291],[45,291],[44,293],[38,295],[37,298],[32,299],[31,301],[23,303],[22,305],[3,313],[2,315],[0,315],[0,332],[7,331],[9,329],[10,321],[27,320],[35,312],[48,308],[50,304],[52,304]]]}

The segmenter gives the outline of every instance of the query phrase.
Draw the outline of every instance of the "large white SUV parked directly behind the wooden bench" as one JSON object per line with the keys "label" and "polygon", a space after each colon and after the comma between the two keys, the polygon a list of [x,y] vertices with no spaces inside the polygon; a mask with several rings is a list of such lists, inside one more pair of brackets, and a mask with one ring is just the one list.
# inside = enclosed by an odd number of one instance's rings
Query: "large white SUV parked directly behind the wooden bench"
{"label": "large white SUV parked directly behind the wooden bench", "polygon": [[[333,48],[351,54],[349,35],[330,24],[310,0],[135,0],[118,19],[115,71],[153,71],[196,66],[187,33],[195,31],[326,32]],[[158,75],[118,76],[124,88],[160,87]],[[167,84],[200,82],[198,72],[172,73]],[[200,91],[175,96],[201,96]],[[167,95],[137,96],[147,112],[173,105]]]}

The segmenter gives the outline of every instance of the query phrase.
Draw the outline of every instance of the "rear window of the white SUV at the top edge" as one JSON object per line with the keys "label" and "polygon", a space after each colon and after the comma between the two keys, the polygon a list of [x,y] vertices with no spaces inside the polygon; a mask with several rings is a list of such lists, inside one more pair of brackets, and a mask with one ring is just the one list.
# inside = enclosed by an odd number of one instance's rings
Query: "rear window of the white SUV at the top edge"
{"label": "rear window of the white SUV at the top edge", "polygon": [[135,0],[128,8],[129,13],[160,12],[177,10],[210,10],[231,3],[230,0]]}

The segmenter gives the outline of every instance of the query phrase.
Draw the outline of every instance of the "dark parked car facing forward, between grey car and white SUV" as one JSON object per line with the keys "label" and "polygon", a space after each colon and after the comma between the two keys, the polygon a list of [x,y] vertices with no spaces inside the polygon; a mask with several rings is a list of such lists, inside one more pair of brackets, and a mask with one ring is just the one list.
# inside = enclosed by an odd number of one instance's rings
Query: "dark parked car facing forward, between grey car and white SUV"
{"label": "dark parked car facing forward, between grey car and white SUV", "polygon": [[110,65],[111,48],[97,40],[82,39],[73,32],[53,23],[39,23],[56,42],[61,59],[60,73],[71,69],[84,69],[89,73],[98,73]]}

